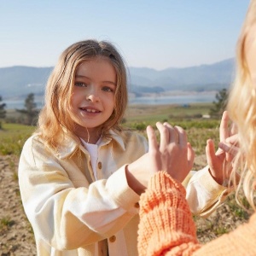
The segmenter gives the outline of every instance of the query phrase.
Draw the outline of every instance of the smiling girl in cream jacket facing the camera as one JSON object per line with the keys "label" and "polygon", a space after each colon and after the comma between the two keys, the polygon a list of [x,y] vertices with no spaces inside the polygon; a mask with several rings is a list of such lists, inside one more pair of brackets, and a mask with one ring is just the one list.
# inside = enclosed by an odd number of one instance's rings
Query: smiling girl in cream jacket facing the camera
{"label": "smiling girl in cream jacket facing the camera", "polygon": [[[119,126],[126,105],[125,65],[112,44],[86,40],[64,50],[38,131],[20,155],[20,195],[38,255],[137,255],[139,195],[154,172],[146,139]],[[227,190],[215,175],[222,170],[210,169],[188,186],[191,207],[205,216]]]}

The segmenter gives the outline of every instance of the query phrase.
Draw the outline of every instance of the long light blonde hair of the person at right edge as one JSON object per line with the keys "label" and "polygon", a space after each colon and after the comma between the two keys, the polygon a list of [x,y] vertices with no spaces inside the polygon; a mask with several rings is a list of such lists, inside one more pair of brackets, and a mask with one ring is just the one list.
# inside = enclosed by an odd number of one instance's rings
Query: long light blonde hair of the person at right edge
{"label": "long light blonde hair of the person at right edge", "polygon": [[[236,52],[236,80],[230,90],[228,112],[238,128],[241,161],[241,179],[236,186],[236,200],[243,189],[249,204],[255,210],[254,191],[256,180],[256,84],[253,84],[246,58],[246,40],[252,27],[256,26],[256,1],[252,0],[241,28]],[[256,35],[255,35],[256,40]],[[256,52],[255,52],[256,55]],[[256,60],[255,60],[256,61]],[[255,71],[256,72],[256,71]],[[235,175],[233,176],[235,177]],[[234,181],[234,183],[236,183]]]}

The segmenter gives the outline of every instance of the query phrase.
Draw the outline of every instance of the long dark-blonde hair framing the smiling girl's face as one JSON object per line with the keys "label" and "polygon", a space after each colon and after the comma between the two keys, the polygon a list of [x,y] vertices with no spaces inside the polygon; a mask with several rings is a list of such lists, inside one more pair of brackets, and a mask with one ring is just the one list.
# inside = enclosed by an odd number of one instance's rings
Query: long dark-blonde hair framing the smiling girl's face
{"label": "long dark-blonde hair framing the smiling girl's face", "polygon": [[125,63],[113,44],[106,41],[85,40],[65,49],[49,76],[45,90],[45,105],[39,114],[36,131],[49,147],[57,149],[67,136],[79,142],[79,138],[75,137],[73,132],[74,123],[70,113],[74,77],[81,62],[98,56],[108,57],[117,76],[113,113],[102,124],[101,132],[102,135],[108,135],[110,129],[121,131],[119,123],[128,102]]}

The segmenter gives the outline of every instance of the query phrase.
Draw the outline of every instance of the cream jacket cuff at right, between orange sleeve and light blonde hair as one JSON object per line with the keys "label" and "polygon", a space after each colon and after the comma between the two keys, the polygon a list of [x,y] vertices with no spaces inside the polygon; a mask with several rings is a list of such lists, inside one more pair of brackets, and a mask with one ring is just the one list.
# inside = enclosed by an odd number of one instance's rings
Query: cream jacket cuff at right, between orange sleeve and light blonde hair
{"label": "cream jacket cuff at right, between orange sleeve and light blonde hair", "polygon": [[183,181],[187,190],[187,201],[190,211],[202,218],[207,218],[230,195],[230,189],[218,184],[210,172],[208,166],[200,171],[189,172]]}

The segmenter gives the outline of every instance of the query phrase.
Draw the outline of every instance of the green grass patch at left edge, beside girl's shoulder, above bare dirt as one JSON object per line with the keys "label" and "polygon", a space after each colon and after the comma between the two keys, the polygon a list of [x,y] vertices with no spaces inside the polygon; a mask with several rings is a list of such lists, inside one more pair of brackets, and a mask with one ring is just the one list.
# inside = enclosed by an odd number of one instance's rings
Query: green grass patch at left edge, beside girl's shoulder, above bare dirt
{"label": "green grass patch at left edge, beside girl's shoulder, above bare dirt", "polygon": [[3,123],[3,130],[0,130],[0,154],[19,156],[23,144],[34,130],[33,126]]}

